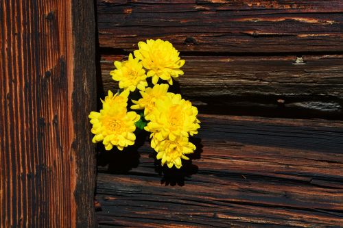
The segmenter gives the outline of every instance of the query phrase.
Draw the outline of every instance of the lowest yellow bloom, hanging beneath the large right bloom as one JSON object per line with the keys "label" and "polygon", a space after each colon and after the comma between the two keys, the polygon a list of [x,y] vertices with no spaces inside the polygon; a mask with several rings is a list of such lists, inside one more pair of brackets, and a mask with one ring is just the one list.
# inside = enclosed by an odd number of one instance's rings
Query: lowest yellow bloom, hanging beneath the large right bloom
{"label": "lowest yellow bloom, hanging beneath the large right bloom", "polygon": [[161,164],[167,163],[167,166],[171,168],[175,165],[176,168],[182,166],[181,158],[184,160],[189,160],[185,154],[193,153],[196,146],[188,141],[187,137],[178,137],[176,140],[163,140],[158,141],[152,139],[152,148],[157,152],[157,159],[161,159]]}

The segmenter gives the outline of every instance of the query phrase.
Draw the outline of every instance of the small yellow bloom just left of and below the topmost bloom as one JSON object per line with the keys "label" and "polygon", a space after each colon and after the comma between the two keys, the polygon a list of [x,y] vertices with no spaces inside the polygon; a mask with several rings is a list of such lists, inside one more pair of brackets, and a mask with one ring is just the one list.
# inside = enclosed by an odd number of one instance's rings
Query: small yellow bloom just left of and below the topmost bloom
{"label": "small yellow bloom just left of and below the topmost bloom", "polygon": [[145,75],[143,65],[138,58],[133,58],[132,54],[130,54],[128,61],[115,61],[115,67],[117,69],[111,71],[110,75],[112,75],[113,80],[119,81],[119,88],[129,89],[131,92],[136,88],[142,91],[145,90],[147,75]]}

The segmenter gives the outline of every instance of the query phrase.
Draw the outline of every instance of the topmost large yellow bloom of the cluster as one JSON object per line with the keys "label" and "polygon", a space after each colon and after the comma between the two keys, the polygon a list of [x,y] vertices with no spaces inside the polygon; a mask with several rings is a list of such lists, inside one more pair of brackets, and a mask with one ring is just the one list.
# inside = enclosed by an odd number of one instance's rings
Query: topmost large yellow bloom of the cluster
{"label": "topmost large yellow bloom of the cluster", "polygon": [[168,41],[147,40],[138,43],[139,50],[134,51],[134,56],[142,61],[147,71],[147,77],[152,77],[152,83],[157,84],[158,78],[173,84],[171,77],[183,75],[180,67],[185,60],[180,60],[179,52]]}

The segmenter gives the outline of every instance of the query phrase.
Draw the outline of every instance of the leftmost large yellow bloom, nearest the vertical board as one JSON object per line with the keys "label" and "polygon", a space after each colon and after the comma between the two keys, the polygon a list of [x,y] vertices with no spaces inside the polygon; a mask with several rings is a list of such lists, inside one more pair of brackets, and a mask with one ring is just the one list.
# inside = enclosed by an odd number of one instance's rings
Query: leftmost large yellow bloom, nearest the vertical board
{"label": "leftmost large yellow bloom, nearest the vertical board", "polygon": [[139,121],[140,116],[136,112],[126,112],[126,109],[123,110],[117,105],[109,105],[106,102],[104,101],[104,109],[100,112],[91,112],[88,116],[93,125],[91,132],[95,134],[92,142],[102,141],[108,151],[114,146],[123,150],[124,147],[134,144],[136,140],[133,133],[136,129],[134,123]]}

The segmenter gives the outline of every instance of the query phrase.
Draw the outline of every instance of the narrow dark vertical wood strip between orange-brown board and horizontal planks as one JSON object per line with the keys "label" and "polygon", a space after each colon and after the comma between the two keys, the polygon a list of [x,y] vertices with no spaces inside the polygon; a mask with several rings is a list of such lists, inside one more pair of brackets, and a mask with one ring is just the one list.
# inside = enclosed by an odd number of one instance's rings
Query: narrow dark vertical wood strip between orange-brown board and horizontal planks
{"label": "narrow dark vertical wood strip between orange-brown board and horizontal planks", "polygon": [[94,191],[95,150],[91,144],[88,114],[95,110],[95,12],[92,0],[73,1],[74,82],[72,109],[75,129],[73,149],[76,158],[76,227],[96,227]]}

